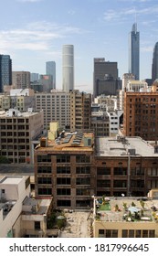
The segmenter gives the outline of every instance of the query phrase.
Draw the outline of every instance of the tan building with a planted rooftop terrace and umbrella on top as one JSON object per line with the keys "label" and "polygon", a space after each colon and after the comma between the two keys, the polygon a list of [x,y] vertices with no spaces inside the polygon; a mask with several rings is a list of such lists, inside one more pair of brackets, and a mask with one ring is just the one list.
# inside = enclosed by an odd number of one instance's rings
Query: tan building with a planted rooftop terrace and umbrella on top
{"label": "tan building with a planted rooftop terrace and umbrella on top", "polygon": [[158,200],[94,197],[92,227],[94,238],[157,238]]}

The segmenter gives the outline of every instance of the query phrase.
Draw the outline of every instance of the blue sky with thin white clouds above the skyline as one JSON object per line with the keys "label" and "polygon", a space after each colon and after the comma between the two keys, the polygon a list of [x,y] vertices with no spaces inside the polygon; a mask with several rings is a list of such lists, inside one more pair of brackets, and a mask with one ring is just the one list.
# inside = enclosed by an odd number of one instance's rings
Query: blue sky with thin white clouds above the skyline
{"label": "blue sky with thin white clouds above the skyline", "polygon": [[62,88],[62,46],[74,45],[75,89],[92,92],[93,59],[118,63],[128,72],[129,33],[140,32],[140,79],[151,78],[158,41],[157,0],[0,0],[0,54],[9,54],[13,71],[46,73],[57,69]]}

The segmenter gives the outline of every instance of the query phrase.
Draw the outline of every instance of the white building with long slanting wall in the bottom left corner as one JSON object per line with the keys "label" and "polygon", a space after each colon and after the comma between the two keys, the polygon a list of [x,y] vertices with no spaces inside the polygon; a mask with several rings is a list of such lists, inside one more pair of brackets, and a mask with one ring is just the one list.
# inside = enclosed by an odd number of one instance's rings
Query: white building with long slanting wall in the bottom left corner
{"label": "white building with long slanting wall in the bottom left corner", "polygon": [[[0,237],[14,237],[20,233],[20,214],[25,197],[29,196],[29,178],[5,176],[0,180]],[[13,229],[14,225],[18,229]],[[16,234],[17,233],[17,234]]]}

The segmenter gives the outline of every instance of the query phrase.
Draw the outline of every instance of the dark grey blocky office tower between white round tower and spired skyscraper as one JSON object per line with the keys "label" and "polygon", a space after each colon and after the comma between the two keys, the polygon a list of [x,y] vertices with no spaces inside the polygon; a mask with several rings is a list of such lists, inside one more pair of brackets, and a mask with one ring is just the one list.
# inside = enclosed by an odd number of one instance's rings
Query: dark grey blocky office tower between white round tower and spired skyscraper
{"label": "dark grey blocky office tower between white round tower and spired skyscraper", "polygon": [[105,61],[104,58],[94,59],[93,97],[100,94],[116,95],[120,89],[117,62]]}

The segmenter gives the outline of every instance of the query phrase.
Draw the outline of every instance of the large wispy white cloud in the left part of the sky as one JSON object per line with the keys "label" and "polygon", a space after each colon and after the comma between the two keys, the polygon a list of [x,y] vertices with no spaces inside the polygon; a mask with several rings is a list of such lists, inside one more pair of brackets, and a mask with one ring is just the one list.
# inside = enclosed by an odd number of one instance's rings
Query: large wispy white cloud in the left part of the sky
{"label": "large wispy white cloud in the left part of the sky", "polygon": [[24,28],[0,31],[0,50],[51,50],[57,39],[84,33],[79,27],[35,22]]}

